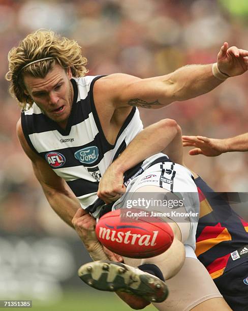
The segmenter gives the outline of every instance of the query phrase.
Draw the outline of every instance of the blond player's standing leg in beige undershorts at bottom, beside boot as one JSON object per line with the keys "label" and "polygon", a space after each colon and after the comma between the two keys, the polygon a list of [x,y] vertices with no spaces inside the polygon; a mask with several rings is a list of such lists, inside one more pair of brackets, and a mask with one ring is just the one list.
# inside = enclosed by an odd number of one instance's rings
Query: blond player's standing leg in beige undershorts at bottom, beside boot
{"label": "blond player's standing leg in beige undershorts at bottom, beside boot", "polygon": [[161,311],[231,310],[193,249],[186,246],[186,250],[192,257],[186,257],[181,270],[167,281],[167,300],[154,305]]}

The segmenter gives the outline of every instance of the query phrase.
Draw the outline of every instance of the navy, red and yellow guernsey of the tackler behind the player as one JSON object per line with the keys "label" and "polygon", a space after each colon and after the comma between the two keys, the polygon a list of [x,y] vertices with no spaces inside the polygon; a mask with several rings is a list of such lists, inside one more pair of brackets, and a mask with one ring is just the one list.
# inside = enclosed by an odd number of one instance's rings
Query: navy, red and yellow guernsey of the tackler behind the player
{"label": "navy, red and yellow guernsey of the tackler behind the player", "polygon": [[248,261],[248,223],[200,177],[195,179],[200,197],[196,255],[213,279]]}

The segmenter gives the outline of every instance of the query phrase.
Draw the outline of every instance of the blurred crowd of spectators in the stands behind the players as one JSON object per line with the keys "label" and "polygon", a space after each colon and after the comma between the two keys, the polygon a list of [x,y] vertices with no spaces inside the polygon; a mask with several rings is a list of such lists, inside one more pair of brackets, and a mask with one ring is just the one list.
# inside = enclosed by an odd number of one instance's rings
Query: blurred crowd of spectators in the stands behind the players
{"label": "blurred crowd of spectators in the stands behind the players", "polygon": [[[214,63],[223,42],[248,49],[246,0],[0,0],[0,229],[73,234],[51,211],[16,138],[20,116],[8,94],[8,51],[28,33],[49,28],[82,46],[89,75],[141,78],[187,64]],[[214,91],[162,110],[140,110],[144,126],[173,118],[185,135],[224,138],[248,132],[247,73]],[[247,192],[246,153],[202,155],[185,163],[216,191]]]}

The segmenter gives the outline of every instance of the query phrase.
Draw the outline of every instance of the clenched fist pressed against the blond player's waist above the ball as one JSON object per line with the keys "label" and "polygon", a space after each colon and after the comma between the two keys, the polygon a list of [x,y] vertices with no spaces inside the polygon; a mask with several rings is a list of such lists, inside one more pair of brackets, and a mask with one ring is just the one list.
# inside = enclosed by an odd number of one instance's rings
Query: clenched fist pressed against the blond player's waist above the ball
{"label": "clenched fist pressed against the blond player's waist above the ball", "polygon": [[123,174],[115,168],[114,164],[111,164],[99,182],[97,195],[108,204],[117,201],[125,192]]}

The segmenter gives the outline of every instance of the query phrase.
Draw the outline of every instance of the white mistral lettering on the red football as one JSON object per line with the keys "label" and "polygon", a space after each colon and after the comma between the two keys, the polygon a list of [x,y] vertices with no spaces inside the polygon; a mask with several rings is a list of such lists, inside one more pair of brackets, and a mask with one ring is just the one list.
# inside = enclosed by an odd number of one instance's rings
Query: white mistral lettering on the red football
{"label": "white mistral lettering on the red football", "polygon": [[[143,229],[143,228],[140,228]],[[138,244],[145,246],[154,246],[156,245],[156,238],[158,236],[159,231],[153,231],[153,234],[132,234],[131,231],[122,232],[115,231],[112,229],[107,229],[104,227],[99,228],[99,237],[105,240],[111,240],[117,243],[124,244]]]}

